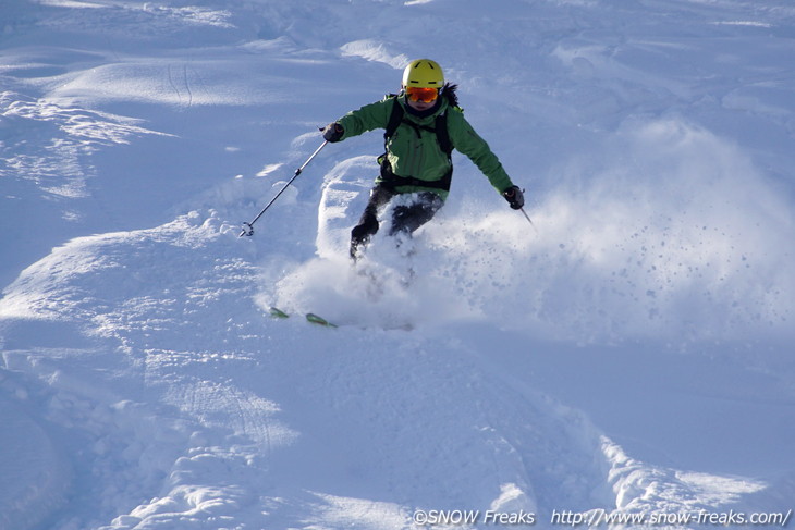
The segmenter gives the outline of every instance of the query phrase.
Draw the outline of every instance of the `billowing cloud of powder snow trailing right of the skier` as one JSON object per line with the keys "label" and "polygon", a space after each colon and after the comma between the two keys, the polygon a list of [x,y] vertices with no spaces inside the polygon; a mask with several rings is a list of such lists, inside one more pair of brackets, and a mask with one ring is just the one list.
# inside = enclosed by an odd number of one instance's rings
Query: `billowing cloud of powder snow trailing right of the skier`
{"label": "billowing cloud of powder snow trailing right of the skier", "polygon": [[578,342],[790,329],[792,219],[737,146],[680,119],[633,120],[561,173],[530,208],[538,234],[512,212],[431,229],[437,274],[461,278],[491,319]]}

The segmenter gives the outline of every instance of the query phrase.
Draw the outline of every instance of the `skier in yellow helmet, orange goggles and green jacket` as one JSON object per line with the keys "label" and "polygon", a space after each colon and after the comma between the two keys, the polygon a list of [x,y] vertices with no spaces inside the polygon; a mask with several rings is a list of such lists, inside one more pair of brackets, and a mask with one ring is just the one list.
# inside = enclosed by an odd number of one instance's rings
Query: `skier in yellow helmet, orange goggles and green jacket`
{"label": "skier in yellow helmet, orange goggles and green jacket", "polygon": [[405,67],[400,94],[351,111],[322,130],[330,143],[386,130],[380,175],[351,231],[354,260],[378,232],[379,211],[394,197],[404,199],[393,208],[390,235],[411,235],[433,218],[450,190],[452,148],[469,157],[511,208],[524,206],[522,189],[511,182],[500,160],[457,107],[456,88],[444,83],[438,63],[417,59]]}

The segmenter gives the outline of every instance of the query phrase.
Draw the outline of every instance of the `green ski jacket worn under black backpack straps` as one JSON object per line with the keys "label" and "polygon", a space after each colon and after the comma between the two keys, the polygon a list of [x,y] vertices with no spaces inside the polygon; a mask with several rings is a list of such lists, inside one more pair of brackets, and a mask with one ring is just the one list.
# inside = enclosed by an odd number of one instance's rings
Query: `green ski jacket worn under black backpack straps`
{"label": "green ski jacket worn under black backpack straps", "polygon": [[[401,104],[406,109],[405,96],[387,97],[381,101],[348,112],[338,120],[344,130],[341,139],[358,136],[376,128],[387,128],[393,104]],[[500,160],[491,152],[489,145],[469,125],[461,109],[451,106],[447,98],[442,97],[439,109],[429,116],[418,118],[405,110],[403,118],[417,125],[432,128],[437,115],[445,111],[448,132],[453,147],[469,157],[499,193],[511,187],[513,185],[511,178],[502,168]],[[395,175],[411,176],[420,181],[439,181],[452,169],[450,158],[440,148],[436,133],[405,123],[401,123],[390,138],[387,145],[387,157]],[[399,193],[436,192],[442,199],[448,196],[448,192],[444,189],[421,186],[399,186],[396,190]]]}

